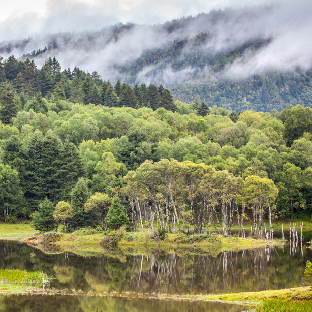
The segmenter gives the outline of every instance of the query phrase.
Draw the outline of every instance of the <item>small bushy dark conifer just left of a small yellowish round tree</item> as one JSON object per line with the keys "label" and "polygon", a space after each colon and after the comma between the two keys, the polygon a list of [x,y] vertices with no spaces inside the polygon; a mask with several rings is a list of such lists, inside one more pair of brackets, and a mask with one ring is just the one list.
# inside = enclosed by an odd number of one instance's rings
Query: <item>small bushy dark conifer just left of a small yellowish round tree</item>
{"label": "small bushy dark conifer just left of a small yellowish round tree", "polygon": [[48,232],[56,229],[57,224],[53,217],[53,203],[45,198],[39,203],[39,209],[32,216],[32,226],[40,232]]}

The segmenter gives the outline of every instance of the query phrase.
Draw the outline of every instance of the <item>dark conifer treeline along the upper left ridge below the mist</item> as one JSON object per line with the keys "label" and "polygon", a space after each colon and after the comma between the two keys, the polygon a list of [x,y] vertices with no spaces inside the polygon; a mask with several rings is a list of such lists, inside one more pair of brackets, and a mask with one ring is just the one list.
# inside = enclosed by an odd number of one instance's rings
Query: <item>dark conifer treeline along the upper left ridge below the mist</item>
{"label": "dark conifer treeline along the upper left ridge below the mist", "polygon": [[132,88],[118,79],[113,87],[109,80],[103,81],[98,72],[85,73],[77,67],[73,71],[69,68],[61,71],[55,57],[49,58],[40,69],[29,59],[18,61],[10,56],[3,61],[0,58],[0,83],[0,103],[6,106],[2,108],[2,116],[8,115],[2,117],[5,123],[10,122],[18,110],[47,112],[41,97],[53,103],[68,100],[108,107],[146,106],[153,110],[159,107],[176,110],[172,93],[162,85],[142,83]]}

